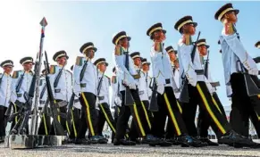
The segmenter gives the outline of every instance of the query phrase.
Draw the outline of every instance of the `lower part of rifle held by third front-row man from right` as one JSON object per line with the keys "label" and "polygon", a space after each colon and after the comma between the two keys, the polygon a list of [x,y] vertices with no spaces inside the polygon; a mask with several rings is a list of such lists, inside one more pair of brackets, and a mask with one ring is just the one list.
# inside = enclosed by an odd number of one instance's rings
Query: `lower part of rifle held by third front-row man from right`
{"label": "lower part of rifle held by third front-row man from right", "polygon": [[[152,86],[152,83],[153,83],[153,86]],[[150,100],[148,110],[151,112],[158,112],[159,108],[158,108],[157,97],[156,97],[157,96],[157,85],[156,85],[155,77],[150,82],[149,87],[152,90],[152,95],[151,95],[151,100]]]}

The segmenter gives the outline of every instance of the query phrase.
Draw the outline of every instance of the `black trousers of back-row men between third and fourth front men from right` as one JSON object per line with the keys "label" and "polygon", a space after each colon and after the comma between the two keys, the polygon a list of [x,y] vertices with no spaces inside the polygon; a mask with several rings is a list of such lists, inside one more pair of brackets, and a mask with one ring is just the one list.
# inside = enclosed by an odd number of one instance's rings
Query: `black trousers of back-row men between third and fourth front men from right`
{"label": "black trousers of back-row men between third and fourth front men from right", "polygon": [[[146,134],[151,134],[152,128],[152,112],[148,111],[149,102],[148,101],[141,101],[138,104],[138,113],[140,120],[142,120],[143,128],[145,129]],[[134,121],[131,121],[130,125],[130,139],[135,140],[138,138],[138,129],[136,128]]]}

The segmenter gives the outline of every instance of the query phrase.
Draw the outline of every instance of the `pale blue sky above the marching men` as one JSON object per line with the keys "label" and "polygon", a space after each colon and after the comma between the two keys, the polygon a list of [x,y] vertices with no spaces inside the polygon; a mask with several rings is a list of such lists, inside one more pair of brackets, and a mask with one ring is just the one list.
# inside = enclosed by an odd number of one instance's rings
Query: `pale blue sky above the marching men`
{"label": "pale blue sky above the marching men", "polygon": [[[210,45],[210,68],[214,80],[220,81],[218,94],[223,105],[229,105],[223,81],[223,68],[218,37],[222,24],[214,20],[214,12],[226,2],[43,2],[17,1],[0,3],[0,54],[1,60],[12,58],[15,70],[21,69],[19,60],[26,55],[36,56],[38,51],[40,26],[38,22],[46,17],[46,38],[44,49],[51,59],[59,50],[69,55],[69,65],[80,55],[80,46],[93,42],[98,51],[95,59],[105,57],[110,66],[107,74],[111,76],[113,68],[112,37],[125,30],[132,40],[130,51],[139,51],[149,57],[152,45],[147,37],[147,29],[156,22],[162,22],[167,30],[165,45],[172,45],[180,38],[173,29],[176,21],[185,15],[192,15],[197,21],[197,30]],[[237,29],[241,41],[251,56],[256,57],[260,51],[254,47],[260,40],[260,2],[232,2],[240,10]],[[197,37],[197,35],[194,37]],[[15,54],[15,55],[14,55]]]}

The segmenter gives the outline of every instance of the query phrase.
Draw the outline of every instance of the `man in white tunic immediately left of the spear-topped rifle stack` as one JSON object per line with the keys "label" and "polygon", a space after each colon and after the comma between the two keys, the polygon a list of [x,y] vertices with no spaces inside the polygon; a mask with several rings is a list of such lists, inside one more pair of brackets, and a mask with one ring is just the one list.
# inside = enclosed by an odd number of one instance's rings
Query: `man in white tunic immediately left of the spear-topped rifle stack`
{"label": "man in white tunic immediately left of the spear-topped rifle stack", "polygon": [[[12,81],[12,95],[11,102],[13,103],[13,111],[18,112],[22,106],[25,105],[24,93],[29,93],[29,87],[33,77],[32,67],[34,65],[32,57],[24,57],[20,60],[23,70],[13,71]],[[19,120],[19,116],[16,116],[12,122],[11,130]],[[28,133],[28,125],[26,127]],[[13,132],[16,132],[13,130]]]}

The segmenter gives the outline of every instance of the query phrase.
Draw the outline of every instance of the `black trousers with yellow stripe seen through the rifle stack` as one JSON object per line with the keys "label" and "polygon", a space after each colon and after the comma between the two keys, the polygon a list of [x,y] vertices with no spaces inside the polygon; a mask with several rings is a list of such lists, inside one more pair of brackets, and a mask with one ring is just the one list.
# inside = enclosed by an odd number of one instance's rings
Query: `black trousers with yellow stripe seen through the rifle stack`
{"label": "black trousers with yellow stripe seen through the rifle stack", "polygon": [[[39,108],[39,111],[43,109]],[[48,112],[50,111],[50,108],[47,108]],[[49,135],[51,131],[51,117],[48,116],[46,113],[42,114],[42,118],[40,120],[39,126],[38,126],[38,135]]]}

